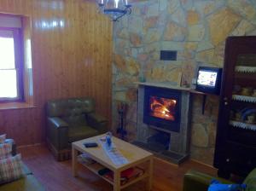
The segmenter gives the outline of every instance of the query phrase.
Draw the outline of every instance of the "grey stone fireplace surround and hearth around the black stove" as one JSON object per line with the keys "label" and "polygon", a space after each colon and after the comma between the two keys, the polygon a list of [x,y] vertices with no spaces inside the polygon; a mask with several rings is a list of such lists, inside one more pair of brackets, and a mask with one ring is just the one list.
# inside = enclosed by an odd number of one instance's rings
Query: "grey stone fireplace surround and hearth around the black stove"
{"label": "grey stone fireplace surround and hearth around the black stove", "polygon": [[[143,123],[145,86],[154,86],[165,88],[170,91],[178,90],[181,92],[181,120],[179,132],[165,130],[154,125]],[[139,147],[148,149],[158,157],[169,160],[175,164],[180,164],[184,159],[187,159],[189,156],[190,137],[189,89],[172,87],[168,84],[162,83],[139,83],[137,103],[137,140],[134,142],[134,144]]]}

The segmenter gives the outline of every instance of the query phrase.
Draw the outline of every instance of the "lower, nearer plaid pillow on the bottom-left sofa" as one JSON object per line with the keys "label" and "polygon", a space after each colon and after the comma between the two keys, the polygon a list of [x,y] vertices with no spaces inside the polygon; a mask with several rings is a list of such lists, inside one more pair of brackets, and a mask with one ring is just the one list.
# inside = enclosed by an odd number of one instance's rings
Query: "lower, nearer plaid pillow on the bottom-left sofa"
{"label": "lower, nearer plaid pillow on the bottom-left sofa", "polygon": [[22,176],[20,154],[0,160],[0,183],[15,181]]}

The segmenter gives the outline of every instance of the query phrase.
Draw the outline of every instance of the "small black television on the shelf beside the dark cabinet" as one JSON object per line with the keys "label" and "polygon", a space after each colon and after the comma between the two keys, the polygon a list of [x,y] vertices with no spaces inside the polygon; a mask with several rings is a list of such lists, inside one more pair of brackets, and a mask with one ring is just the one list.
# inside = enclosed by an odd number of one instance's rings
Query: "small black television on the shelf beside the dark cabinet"
{"label": "small black television on the shelf beside the dark cabinet", "polygon": [[201,92],[219,94],[221,86],[222,68],[199,67],[196,78],[196,88]]}

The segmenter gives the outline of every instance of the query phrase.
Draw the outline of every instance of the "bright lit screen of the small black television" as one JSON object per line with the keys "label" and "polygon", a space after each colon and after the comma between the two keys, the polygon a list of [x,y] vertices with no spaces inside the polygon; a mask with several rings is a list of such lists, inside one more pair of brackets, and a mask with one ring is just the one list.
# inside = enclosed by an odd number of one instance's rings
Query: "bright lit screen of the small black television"
{"label": "bright lit screen of the small black television", "polygon": [[215,87],[218,72],[201,70],[198,73],[197,84]]}

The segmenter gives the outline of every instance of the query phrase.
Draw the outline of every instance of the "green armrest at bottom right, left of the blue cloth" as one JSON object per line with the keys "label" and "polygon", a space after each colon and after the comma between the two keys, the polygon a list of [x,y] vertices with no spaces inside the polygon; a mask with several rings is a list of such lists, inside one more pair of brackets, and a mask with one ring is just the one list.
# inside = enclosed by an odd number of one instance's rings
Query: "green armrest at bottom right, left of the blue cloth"
{"label": "green armrest at bottom right, left of the blue cloth", "polygon": [[212,177],[199,171],[190,170],[184,175],[183,191],[207,191],[212,179],[227,184],[234,183],[223,178]]}

